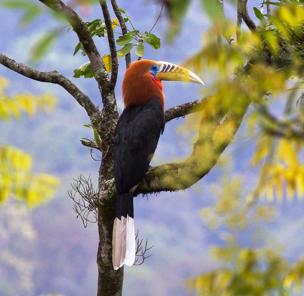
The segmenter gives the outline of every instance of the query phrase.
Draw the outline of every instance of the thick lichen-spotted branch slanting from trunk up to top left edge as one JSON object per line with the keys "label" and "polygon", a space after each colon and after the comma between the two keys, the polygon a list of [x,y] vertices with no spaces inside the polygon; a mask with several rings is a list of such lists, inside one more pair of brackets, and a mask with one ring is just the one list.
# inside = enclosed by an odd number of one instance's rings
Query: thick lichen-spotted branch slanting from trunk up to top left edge
{"label": "thick lichen-spotted branch slanting from trunk up to top left edge", "polygon": [[80,18],[80,16],[71,9],[70,6],[66,5],[60,0],[39,0],[44,5],[47,5],[54,12],[57,12],[64,16],[65,19],[71,24],[74,31],[76,32],[79,41],[82,43],[85,52],[92,64],[92,68],[95,72],[95,79],[98,83],[100,91],[109,81],[109,75],[105,70],[105,66],[102,62],[102,58],[95,46],[95,43],[90,35],[90,32]]}

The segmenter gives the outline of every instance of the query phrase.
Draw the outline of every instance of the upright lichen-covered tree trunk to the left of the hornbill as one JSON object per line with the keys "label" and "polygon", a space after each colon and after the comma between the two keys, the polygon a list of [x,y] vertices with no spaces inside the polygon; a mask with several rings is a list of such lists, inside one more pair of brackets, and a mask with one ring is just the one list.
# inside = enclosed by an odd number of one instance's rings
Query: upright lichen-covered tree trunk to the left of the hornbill
{"label": "upright lichen-covered tree trunk to the left of the hornbill", "polygon": [[97,252],[98,287],[97,296],[119,296],[123,291],[123,267],[118,270],[112,265],[112,233],[115,211],[116,190],[113,173],[114,131],[118,120],[115,93],[103,93],[105,105],[102,122],[98,130],[102,139],[102,163],[98,180],[98,234]]}

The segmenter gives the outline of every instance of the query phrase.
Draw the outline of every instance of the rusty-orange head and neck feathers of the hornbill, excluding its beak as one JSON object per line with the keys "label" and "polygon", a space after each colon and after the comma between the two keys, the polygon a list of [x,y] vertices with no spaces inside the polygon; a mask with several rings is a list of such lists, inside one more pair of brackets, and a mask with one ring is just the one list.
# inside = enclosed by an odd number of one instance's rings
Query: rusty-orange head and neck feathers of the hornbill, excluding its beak
{"label": "rusty-orange head and neck feathers of the hornbill, excluding its beak", "polygon": [[150,67],[157,64],[152,60],[133,62],[123,78],[122,93],[125,107],[143,105],[152,97],[158,97],[164,109],[165,97],[161,80],[150,73]]}

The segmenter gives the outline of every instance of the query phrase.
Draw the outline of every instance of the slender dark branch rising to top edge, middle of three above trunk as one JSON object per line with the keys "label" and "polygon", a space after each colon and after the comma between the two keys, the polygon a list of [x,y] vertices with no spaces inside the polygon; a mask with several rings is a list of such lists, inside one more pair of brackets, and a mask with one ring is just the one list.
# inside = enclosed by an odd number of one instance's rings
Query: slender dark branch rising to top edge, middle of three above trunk
{"label": "slender dark branch rising to top edge, middle of three above trunk", "polygon": [[99,0],[99,3],[102,8],[102,14],[105,19],[105,27],[107,28],[107,35],[108,35],[108,43],[110,47],[110,53],[112,57],[112,74],[111,74],[111,85],[112,89],[114,90],[118,75],[118,58],[116,52],[116,44],[114,38],[114,32],[112,29],[112,20],[109,13],[109,9],[105,0]]}

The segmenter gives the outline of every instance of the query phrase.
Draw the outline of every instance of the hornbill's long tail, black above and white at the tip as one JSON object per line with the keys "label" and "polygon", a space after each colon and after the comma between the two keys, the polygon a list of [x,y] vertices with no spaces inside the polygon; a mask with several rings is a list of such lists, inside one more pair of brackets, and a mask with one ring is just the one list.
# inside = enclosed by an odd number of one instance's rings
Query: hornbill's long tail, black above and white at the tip
{"label": "hornbill's long tail, black above and white at the tip", "polygon": [[117,194],[113,226],[112,262],[114,269],[135,262],[133,192]]}

